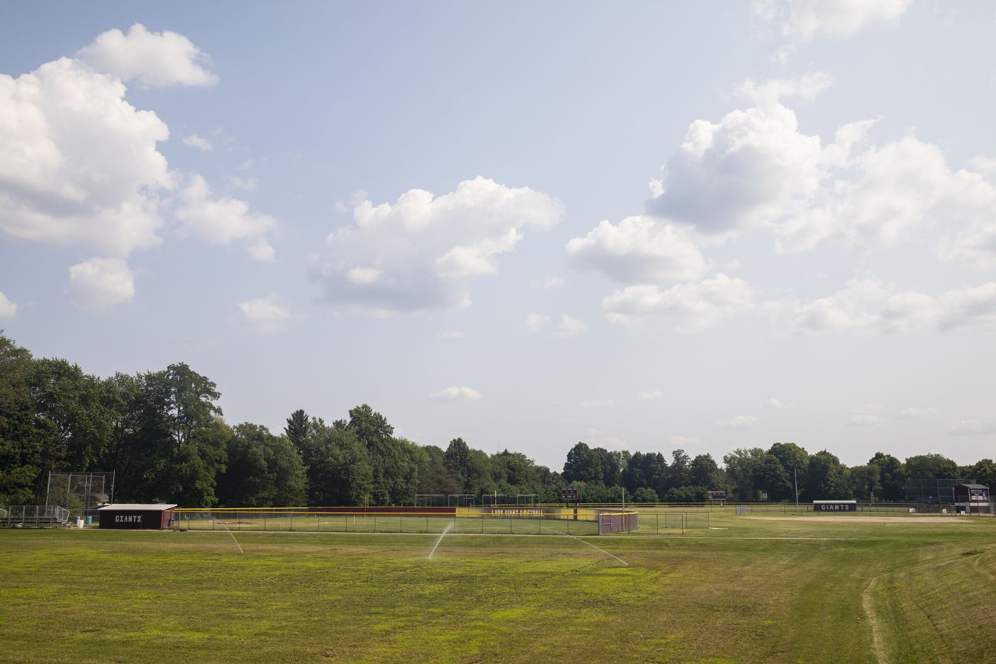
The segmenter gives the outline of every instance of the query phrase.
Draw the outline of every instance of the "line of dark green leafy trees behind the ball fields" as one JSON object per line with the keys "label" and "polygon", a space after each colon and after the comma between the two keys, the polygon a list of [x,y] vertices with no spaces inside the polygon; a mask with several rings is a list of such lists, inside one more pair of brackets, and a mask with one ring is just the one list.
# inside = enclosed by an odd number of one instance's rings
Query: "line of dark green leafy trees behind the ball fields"
{"label": "line of dark green leafy trees behind the ball fields", "polygon": [[115,499],[186,505],[402,504],[416,494],[536,495],[556,502],[568,486],[585,501],[731,499],[902,500],[907,479],[966,478],[996,486],[996,465],[957,466],[941,455],[900,462],[876,453],[847,467],[794,443],[708,454],[608,451],[585,443],[563,473],[504,450],[487,454],[460,438],[443,449],[394,436],[368,405],[327,424],[296,411],[280,435],[229,426],[213,382],[185,364],[100,378],[66,360],[34,358],[0,333],[0,504],[44,498],[49,471],[114,471]]}

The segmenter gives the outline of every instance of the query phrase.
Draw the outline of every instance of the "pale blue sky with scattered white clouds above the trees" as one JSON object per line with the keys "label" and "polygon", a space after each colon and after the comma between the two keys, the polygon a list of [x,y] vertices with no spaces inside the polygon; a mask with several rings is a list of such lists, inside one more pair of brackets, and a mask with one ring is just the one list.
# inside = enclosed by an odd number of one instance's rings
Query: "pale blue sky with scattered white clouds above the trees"
{"label": "pale blue sky with scattered white clouds above the trees", "polygon": [[5,8],[0,327],[187,362],[229,422],[366,402],[554,468],[992,457],[994,38],[985,2]]}

